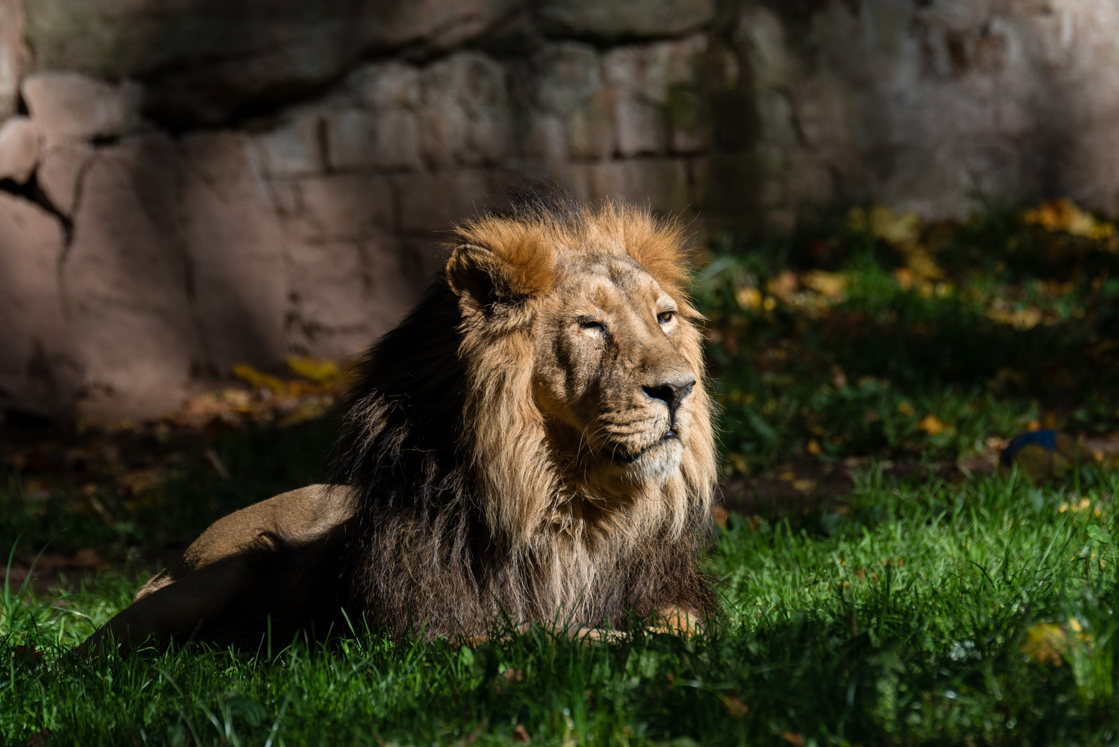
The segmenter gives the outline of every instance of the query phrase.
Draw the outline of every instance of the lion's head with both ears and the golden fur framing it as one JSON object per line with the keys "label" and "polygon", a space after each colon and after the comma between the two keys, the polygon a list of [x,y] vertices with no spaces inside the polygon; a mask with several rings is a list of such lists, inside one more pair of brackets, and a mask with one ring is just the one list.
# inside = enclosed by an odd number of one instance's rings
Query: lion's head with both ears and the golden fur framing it
{"label": "lion's head with both ears and the golden fur framing it", "polygon": [[490,525],[678,536],[715,482],[679,226],[605,204],[457,234],[462,452]]}

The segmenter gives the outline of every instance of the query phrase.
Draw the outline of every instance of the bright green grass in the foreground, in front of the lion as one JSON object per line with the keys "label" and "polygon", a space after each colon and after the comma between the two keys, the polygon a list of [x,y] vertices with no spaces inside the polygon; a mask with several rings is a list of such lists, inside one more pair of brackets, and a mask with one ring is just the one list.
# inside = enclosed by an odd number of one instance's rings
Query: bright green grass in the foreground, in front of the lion
{"label": "bright green grass in the foreground, in front of the lion", "polygon": [[55,606],[12,590],[0,736],[508,744],[521,725],[555,745],[1106,744],[1119,718],[1119,551],[1092,535],[1113,526],[1117,489],[1102,471],[1076,494],[871,473],[838,511],[732,516],[708,558],[727,615],[693,641],[581,646],[533,632],[470,651],[360,636],[251,660],[187,648],[79,661],[68,650],[140,579],[103,575]]}

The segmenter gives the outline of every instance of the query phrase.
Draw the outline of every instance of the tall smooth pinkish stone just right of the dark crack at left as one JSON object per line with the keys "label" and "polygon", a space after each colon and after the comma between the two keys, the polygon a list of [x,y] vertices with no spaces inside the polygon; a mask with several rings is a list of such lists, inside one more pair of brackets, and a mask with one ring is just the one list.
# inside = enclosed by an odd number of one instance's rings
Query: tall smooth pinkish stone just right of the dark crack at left
{"label": "tall smooth pinkish stone just right of the dark crack at left", "polygon": [[79,413],[168,412],[203,364],[181,179],[178,148],[164,137],[100,149],[88,166],[60,273],[75,358],[84,368]]}

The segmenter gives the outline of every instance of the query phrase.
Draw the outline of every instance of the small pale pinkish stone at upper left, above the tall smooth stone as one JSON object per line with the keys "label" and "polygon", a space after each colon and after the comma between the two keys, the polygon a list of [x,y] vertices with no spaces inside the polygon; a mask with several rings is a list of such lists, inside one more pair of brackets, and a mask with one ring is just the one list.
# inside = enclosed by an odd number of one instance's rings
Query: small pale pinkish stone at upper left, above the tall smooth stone
{"label": "small pale pinkish stone at upper left, above the tall smooth stone", "polygon": [[143,90],[110,85],[79,73],[36,73],[23,78],[23,101],[46,144],[115,138],[141,123]]}

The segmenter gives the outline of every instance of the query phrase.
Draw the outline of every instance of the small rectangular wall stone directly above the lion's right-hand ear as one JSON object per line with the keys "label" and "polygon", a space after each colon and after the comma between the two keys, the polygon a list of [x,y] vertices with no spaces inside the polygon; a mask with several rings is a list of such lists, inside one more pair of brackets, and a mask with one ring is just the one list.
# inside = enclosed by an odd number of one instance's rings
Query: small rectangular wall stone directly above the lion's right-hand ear
{"label": "small rectangular wall stone directly above the lion's right-hand ear", "polygon": [[688,208],[688,174],[680,159],[634,158],[571,166],[566,181],[582,199],[622,199],[657,213]]}

